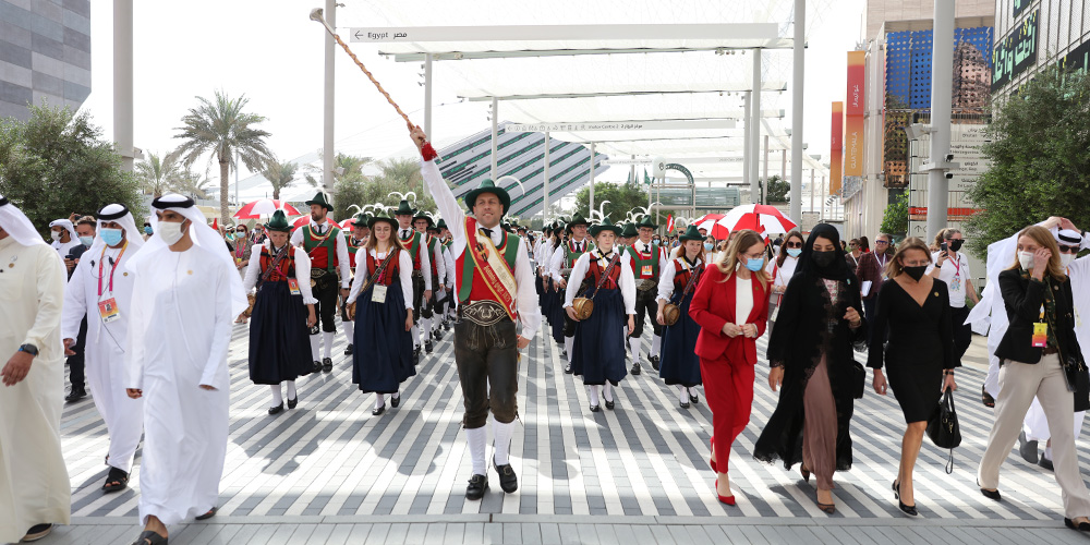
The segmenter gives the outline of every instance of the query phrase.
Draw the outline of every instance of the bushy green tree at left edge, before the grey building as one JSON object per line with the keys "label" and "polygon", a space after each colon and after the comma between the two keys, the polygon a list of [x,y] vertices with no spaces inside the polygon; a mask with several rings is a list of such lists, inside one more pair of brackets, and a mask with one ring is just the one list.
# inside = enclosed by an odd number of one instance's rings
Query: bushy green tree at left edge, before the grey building
{"label": "bushy green tree at left edge, before the grey building", "polygon": [[84,111],[31,107],[31,119],[0,119],[0,194],[26,213],[38,231],[73,213],[95,215],[120,203],[142,217],[140,181],[121,170],[121,156]]}

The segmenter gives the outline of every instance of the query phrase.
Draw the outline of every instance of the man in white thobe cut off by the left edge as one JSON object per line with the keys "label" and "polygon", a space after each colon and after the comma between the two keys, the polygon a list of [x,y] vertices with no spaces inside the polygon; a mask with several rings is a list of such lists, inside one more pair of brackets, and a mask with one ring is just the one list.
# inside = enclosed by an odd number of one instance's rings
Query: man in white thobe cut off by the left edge
{"label": "man in white thobe cut off by the left edge", "polygon": [[0,196],[0,543],[68,524],[61,453],[64,266],[26,216]]}

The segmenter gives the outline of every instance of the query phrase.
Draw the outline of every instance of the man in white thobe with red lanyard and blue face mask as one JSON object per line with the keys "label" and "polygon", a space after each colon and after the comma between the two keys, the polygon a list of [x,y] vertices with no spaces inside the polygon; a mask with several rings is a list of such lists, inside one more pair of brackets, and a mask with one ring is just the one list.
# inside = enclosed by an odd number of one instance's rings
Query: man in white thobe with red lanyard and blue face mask
{"label": "man in white thobe with red lanyard and blue face mask", "polygon": [[109,474],[102,491],[129,486],[133,457],[144,432],[144,402],[125,393],[124,367],[133,281],[128,264],[144,245],[129,208],[107,205],[98,213],[97,235],[75,268],[64,293],[61,337],[76,342],[87,317],[84,358],[95,407],[110,437]]}

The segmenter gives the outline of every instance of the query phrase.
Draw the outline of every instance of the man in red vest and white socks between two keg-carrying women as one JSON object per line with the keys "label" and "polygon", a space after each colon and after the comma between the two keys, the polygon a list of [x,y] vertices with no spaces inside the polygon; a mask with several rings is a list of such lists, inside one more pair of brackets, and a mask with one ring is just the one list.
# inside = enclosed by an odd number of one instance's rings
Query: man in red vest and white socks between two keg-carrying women
{"label": "man in red vest and white socks between two keg-carrying women", "polygon": [[632,374],[639,375],[640,338],[643,336],[644,320],[651,322],[655,334],[651,338],[651,355],[647,361],[655,371],[658,371],[658,356],[663,349],[663,326],[655,319],[658,313],[658,302],[655,299],[658,296],[658,277],[669,259],[666,251],[651,240],[658,226],[651,221],[650,215],[644,216],[635,228],[640,238],[628,245],[628,253],[632,256],[629,263],[632,264],[632,274],[635,276],[635,329],[629,336],[628,342],[632,352]]}

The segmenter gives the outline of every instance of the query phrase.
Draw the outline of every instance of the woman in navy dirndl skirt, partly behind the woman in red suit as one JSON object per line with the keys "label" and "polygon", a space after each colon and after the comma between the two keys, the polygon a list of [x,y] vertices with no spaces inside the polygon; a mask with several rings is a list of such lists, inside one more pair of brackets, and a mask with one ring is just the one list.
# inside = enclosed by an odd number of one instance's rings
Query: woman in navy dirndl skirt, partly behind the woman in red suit
{"label": "woman in navy dirndl skirt, partly behind the woman in red suit", "polygon": [[667,385],[678,387],[679,404],[681,409],[688,409],[690,403],[699,400],[695,388],[703,384],[700,358],[695,353],[700,325],[689,316],[689,308],[704,271],[705,256],[695,226],[689,226],[681,240],[685,242],[682,254],[663,267],[658,280],[658,313],[655,319],[666,326],[663,308],[668,302],[681,312],[673,326],[663,328],[663,361],[658,377]]}

